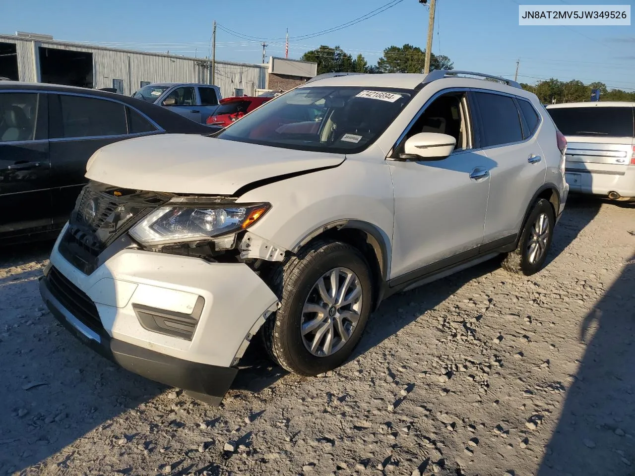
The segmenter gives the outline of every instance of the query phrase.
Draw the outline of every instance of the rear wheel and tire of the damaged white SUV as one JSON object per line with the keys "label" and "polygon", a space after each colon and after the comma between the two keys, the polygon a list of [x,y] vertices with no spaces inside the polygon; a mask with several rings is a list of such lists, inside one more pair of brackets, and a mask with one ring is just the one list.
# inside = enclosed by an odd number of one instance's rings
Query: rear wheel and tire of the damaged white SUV
{"label": "rear wheel and tire of the damaged white SUV", "polygon": [[514,274],[530,276],[542,269],[553,237],[555,215],[551,203],[538,199],[527,217],[518,248],[507,253],[502,267]]}

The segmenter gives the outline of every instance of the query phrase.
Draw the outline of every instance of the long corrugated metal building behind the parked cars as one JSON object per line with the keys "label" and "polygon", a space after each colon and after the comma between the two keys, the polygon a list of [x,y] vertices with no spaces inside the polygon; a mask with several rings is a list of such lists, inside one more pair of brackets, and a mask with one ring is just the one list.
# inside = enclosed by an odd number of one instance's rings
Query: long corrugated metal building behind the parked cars
{"label": "long corrugated metal building behind the parked cars", "polygon": [[[17,47],[20,81],[41,81],[40,48],[79,51],[92,55],[94,88],[113,88],[113,80],[123,83],[123,93],[131,95],[149,83],[206,83],[210,84],[211,63],[204,58],[144,51],[116,50],[79,43],[32,39],[13,35],[0,35],[0,43],[13,43]],[[45,54],[45,53],[43,53]],[[215,84],[223,97],[234,96],[236,89],[254,95],[256,89],[264,89],[267,83],[267,65],[216,62]]]}

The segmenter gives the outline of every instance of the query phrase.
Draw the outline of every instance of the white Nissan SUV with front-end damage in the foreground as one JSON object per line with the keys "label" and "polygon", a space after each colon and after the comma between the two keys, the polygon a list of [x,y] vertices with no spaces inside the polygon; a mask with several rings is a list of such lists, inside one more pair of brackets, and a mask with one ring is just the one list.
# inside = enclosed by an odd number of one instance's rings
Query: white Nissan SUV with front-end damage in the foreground
{"label": "white Nissan SUV with front-end damage in the foreground", "polygon": [[256,334],[316,375],[349,359],[391,294],[500,253],[540,270],[565,148],[512,81],[318,77],[217,137],[98,150],[41,294],[121,366],[218,403]]}

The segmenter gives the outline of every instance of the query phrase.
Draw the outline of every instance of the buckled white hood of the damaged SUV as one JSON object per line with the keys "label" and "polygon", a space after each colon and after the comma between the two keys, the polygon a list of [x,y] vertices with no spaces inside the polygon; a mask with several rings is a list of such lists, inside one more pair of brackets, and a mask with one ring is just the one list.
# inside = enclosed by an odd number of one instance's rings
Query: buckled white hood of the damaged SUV
{"label": "buckled white hood of the damaged SUV", "polygon": [[342,161],[342,154],[165,134],[102,147],[88,161],[86,178],[153,192],[232,195],[258,180],[334,167]]}

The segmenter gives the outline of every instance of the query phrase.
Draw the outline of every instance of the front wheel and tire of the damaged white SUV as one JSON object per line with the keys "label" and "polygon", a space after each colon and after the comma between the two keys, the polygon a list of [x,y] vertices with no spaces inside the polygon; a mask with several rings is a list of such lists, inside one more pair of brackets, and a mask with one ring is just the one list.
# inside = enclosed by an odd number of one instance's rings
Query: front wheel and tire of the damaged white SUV
{"label": "front wheel and tire of the damaged white SUV", "polygon": [[305,376],[342,365],[372,306],[370,268],[359,250],[338,241],[309,244],[276,269],[270,284],[281,303],[262,327],[271,358]]}

